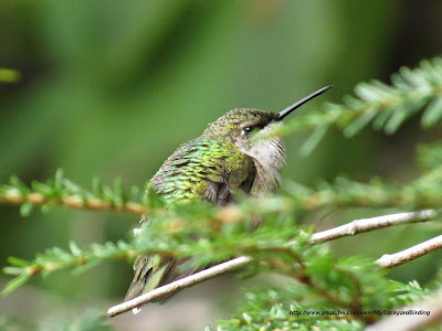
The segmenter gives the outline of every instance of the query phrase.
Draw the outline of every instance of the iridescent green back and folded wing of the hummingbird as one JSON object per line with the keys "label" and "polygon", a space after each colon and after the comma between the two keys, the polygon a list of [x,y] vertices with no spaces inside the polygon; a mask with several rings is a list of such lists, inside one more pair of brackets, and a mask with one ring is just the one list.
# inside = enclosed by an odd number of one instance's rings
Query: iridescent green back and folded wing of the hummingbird
{"label": "iridescent green back and folded wing of the hummingbird", "polygon": [[254,175],[252,158],[221,137],[201,136],[179,147],[150,180],[167,204],[207,199],[228,202],[230,191]]}

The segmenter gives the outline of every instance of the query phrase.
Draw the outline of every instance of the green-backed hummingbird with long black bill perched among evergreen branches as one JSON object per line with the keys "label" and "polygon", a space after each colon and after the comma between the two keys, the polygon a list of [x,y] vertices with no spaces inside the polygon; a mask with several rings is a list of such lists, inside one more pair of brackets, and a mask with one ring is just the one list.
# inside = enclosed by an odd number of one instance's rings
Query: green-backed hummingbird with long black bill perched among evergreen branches
{"label": "green-backed hummingbird with long black bill perched among evergreen branches", "polygon": [[[330,87],[323,87],[280,113],[230,110],[210,124],[199,138],[181,145],[151,178],[148,191],[152,189],[168,207],[196,199],[224,206],[234,202],[236,190],[252,197],[274,192],[285,164],[283,141],[278,137],[253,138],[270,132],[287,115]],[[146,227],[147,217],[143,216],[140,223],[141,228]],[[182,263],[159,255],[138,256],[125,301],[196,271],[176,275]]]}

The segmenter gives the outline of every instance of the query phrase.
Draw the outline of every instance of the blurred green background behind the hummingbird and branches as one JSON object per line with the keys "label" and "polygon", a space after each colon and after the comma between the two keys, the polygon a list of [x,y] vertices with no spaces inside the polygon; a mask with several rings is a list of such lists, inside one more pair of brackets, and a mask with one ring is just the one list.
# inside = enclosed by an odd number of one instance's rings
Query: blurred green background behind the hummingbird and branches
{"label": "blurred green background behind the hummingbird and branches", "polygon": [[[306,94],[333,90],[303,107],[339,102],[360,81],[388,82],[402,65],[415,66],[442,51],[442,2],[263,1],[17,1],[0,2],[0,67],[21,79],[0,83],[0,181],[17,174],[45,180],[57,168],[90,185],[98,175],[110,184],[143,185],[182,142],[235,107],[280,110]],[[351,140],[329,132],[308,158],[298,149],[308,132],[287,139],[284,178],[305,184],[346,173],[411,178],[417,120],[393,137],[370,129]],[[429,138],[430,137],[430,138]],[[319,227],[369,216],[350,211],[308,222]],[[0,266],[8,256],[33,258],[46,247],[82,247],[129,238],[137,217],[53,210],[28,218],[0,205]],[[382,231],[337,243],[343,255],[379,257],[440,229],[430,225]],[[408,234],[413,232],[414,237]],[[375,244],[376,243],[376,244]],[[350,248],[350,252],[349,252]],[[440,254],[393,270],[424,282]],[[78,277],[69,273],[34,280],[8,298],[0,312],[30,321],[75,317],[90,306],[120,301],[131,280],[126,261]],[[0,285],[8,281],[0,276]],[[110,322],[118,330],[196,330],[228,318],[240,287],[220,277],[181,292],[166,306]],[[50,313],[48,313],[50,311]]]}

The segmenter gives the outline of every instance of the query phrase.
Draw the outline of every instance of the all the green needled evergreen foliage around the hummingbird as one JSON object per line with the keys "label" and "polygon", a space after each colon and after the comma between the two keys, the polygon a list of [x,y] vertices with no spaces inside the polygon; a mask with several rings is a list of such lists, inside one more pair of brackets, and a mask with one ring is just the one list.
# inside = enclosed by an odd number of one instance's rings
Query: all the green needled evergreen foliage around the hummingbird
{"label": "all the green needled evergreen foliage around the hummingbird", "polygon": [[[333,125],[350,137],[369,122],[376,129],[393,134],[406,119],[420,110],[423,113],[423,128],[440,121],[440,58],[422,62],[421,67],[413,71],[402,68],[400,74],[392,76],[392,86],[379,82],[360,84],[356,88],[359,98],[347,97],[343,105],[326,105],[325,111],[299,116],[278,128],[276,135],[316,129],[304,147],[307,153]],[[359,330],[379,318],[376,311],[396,309],[429,295],[440,286],[440,279],[434,280],[431,289],[422,288],[417,281],[408,285],[391,281],[371,259],[336,257],[326,245],[311,245],[308,238],[314,229],[299,226],[298,218],[306,212],[320,209],[440,209],[441,151],[441,142],[422,145],[418,161],[423,172],[408,183],[377,178],[361,183],[338,177],[332,183],[322,182],[316,188],[307,188],[285,181],[284,194],[253,201],[239,196],[236,205],[223,209],[196,201],[165,210],[152,192],[141,196],[143,190],[134,188],[129,197],[120,180],[113,189],[94,180],[93,189],[86,190],[65,179],[62,171],[55,174],[54,180],[34,182],[31,186],[12,178],[9,185],[0,189],[0,202],[21,204],[22,214],[29,214],[33,205],[54,204],[135,214],[146,212],[149,226],[129,242],[93,244],[88,249],[71,243],[70,249],[54,247],[38,254],[31,261],[10,258],[10,266],[3,271],[15,278],[8,284],[3,295],[35,275],[50,275],[64,268],[77,274],[103,261],[133,260],[138,255],[150,253],[187,259],[182,268],[210,266],[246,255],[255,263],[246,266],[243,275],[272,271],[282,275],[282,280],[272,288],[249,290],[246,303],[240,312],[230,320],[218,322],[220,330]],[[327,313],[330,311],[345,313]],[[371,312],[360,313],[362,311]]]}

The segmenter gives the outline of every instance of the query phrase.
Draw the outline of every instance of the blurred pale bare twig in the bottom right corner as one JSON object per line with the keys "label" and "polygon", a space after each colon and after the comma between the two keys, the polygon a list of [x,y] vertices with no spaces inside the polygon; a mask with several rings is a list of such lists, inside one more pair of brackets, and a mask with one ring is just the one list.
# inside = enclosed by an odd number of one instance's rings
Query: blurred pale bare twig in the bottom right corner
{"label": "blurred pale bare twig in the bottom right corner", "polygon": [[397,309],[365,331],[413,331],[442,319],[442,289],[420,302]]}

